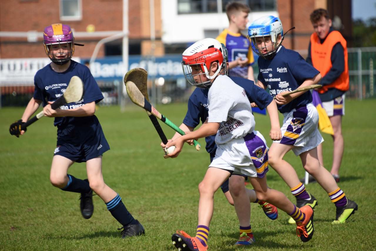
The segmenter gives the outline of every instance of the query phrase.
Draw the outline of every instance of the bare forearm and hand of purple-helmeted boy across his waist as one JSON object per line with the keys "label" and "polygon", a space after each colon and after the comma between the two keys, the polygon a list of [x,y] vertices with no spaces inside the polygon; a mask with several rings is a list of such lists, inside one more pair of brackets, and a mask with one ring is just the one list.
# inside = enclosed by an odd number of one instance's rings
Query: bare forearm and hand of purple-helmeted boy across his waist
{"label": "bare forearm and hand of purple-helmeted boy across his waist", "polygon": [[71,117],[87,117],[92,116],[95,113],[95,102],[87,103],[83,106],[80,106],[78,108],[69,109],[69,110],[62,110],[62,109],[56,109],[53,110],[51,108],[51,103],[49,102],[48,105],[44,106],[43,113],[44,116],[47,117],[65,117],[65,116],[71,116]]}

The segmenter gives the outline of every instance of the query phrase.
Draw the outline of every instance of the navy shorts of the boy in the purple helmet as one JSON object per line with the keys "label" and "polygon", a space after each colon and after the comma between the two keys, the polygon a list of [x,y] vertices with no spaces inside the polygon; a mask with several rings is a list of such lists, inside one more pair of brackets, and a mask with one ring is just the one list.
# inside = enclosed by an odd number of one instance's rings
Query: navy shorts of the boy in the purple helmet
{"label": "navy shorts of the boy in the purple helmet", "polygon": [[97,117],[93,116],[89,125],[68,125],[58,128],[54,155],[61,155],[80,163],[103,155],[109,149],[102,126]]}

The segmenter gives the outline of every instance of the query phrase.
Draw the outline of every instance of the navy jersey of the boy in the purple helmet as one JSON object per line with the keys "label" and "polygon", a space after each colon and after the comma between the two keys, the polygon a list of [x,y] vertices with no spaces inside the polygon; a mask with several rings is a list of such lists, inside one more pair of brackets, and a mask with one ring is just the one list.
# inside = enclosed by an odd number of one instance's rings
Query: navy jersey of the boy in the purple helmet
{"label": "navy jersey of the boy in the purple helmet", "polygon": [[[43,106],[47,105],[47,101],[55,101],[65,92],[73,76],[79,76],[82,79],[84,89],[83,98],[79,102],[71,102],[60,106],[60,109],[73,109],[93,101],[97,103],[103,99],[102,92],[91,75],[89,68],[73,60],[71,60],[68,70],[61,73],[52,70],[50,64],[38,70],[34,77],[34,99],[42,100]],[[93,120],[90,116],[55,117],[54,125],[58,126],[58,128],[64,128],[68,124],[90,125],[94,121],[97,120]]]}

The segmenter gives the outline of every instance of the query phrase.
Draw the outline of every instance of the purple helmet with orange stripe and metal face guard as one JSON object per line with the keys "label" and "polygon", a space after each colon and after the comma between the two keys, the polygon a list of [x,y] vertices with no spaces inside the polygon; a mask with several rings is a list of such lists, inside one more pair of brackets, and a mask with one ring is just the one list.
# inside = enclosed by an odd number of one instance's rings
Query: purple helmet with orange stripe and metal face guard
{"label": "purple helmet with orange stripe and metal face guard", "polygon": [[70,26],[59,23],[45,27],[43,44],[52,62],[58,65],[66,64],[74,53],[74,37]]}

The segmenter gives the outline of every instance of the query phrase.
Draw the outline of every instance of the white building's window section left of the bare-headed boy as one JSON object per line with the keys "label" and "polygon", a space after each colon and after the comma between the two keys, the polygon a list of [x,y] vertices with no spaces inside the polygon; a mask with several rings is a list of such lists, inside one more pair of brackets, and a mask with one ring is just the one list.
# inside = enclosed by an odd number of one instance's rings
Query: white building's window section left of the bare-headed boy
{"label": "white building's window section left of the bare-headed boy", "polygon": [[215,13],[217,0],[177,0],[177,13]]}

